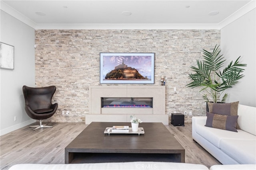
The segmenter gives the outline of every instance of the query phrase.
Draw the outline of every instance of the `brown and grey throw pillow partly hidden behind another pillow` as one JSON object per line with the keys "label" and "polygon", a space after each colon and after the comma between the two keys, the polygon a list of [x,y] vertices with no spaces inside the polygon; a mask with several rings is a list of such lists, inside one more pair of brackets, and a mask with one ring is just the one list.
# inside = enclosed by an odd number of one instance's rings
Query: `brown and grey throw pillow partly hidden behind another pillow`
{"label": "brown and grey throw pillow partly hidden behind another pillow", "polygon": [[[239,104],[239,101],[232,102],[232,103],[207,102],[210,113],[216,113],[219,115],[232,115],[232,116],[238,115],[238,104]],[[236,124],[236,129],[240,129],[238,123]]]}

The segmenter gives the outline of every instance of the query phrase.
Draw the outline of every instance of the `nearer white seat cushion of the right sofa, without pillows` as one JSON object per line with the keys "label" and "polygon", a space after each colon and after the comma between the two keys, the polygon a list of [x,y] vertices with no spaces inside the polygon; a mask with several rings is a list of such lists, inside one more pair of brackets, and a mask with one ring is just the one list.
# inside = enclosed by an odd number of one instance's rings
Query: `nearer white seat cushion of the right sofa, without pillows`
{"label": "nearer white seat cushion of the right sofa, without pillows", "polygon": [[222,139],[220,149],[240,164],[256,164],[255,138],[254,140]]}

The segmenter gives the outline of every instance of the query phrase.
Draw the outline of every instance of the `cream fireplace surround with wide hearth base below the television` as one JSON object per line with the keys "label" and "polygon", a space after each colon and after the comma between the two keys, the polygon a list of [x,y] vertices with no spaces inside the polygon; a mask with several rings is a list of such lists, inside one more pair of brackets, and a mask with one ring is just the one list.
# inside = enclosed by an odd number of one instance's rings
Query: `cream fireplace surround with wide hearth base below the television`
{"label": "cream fireplace surround with wide hearth base below the television", "polygon": [[[152,108],[102,108],[101,98],[153,98]],[[89,113],[85,123],[92,121],[129,122],[130,115],[144,122],[162,122],[168,125],[165,114],[165,86],[89,86]]]}

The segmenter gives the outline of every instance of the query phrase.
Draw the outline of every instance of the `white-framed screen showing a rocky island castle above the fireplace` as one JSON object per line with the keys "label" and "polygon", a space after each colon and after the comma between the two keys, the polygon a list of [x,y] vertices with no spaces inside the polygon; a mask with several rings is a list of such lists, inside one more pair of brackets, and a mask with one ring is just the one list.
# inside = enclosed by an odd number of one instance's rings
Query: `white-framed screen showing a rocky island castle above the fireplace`
{"label": "white-framed screen showing a rocky island castle above the fireplace", "polygon": [[100,53],[100,83],[154,84],[155,53]]}

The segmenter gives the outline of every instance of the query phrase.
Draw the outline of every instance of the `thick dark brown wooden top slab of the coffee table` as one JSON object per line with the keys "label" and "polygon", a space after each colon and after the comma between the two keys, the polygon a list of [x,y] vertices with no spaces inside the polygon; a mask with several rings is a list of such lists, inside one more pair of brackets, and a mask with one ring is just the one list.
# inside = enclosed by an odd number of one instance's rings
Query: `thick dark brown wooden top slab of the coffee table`
{"label": "thick dark brown wooden top slab of the coffee table", "polygon": [[69,152],[180,153],[184,148],[162,123],[140,123],[145,133],[104,134],[106,127],[129,122],[92,122],[66,148]]}

